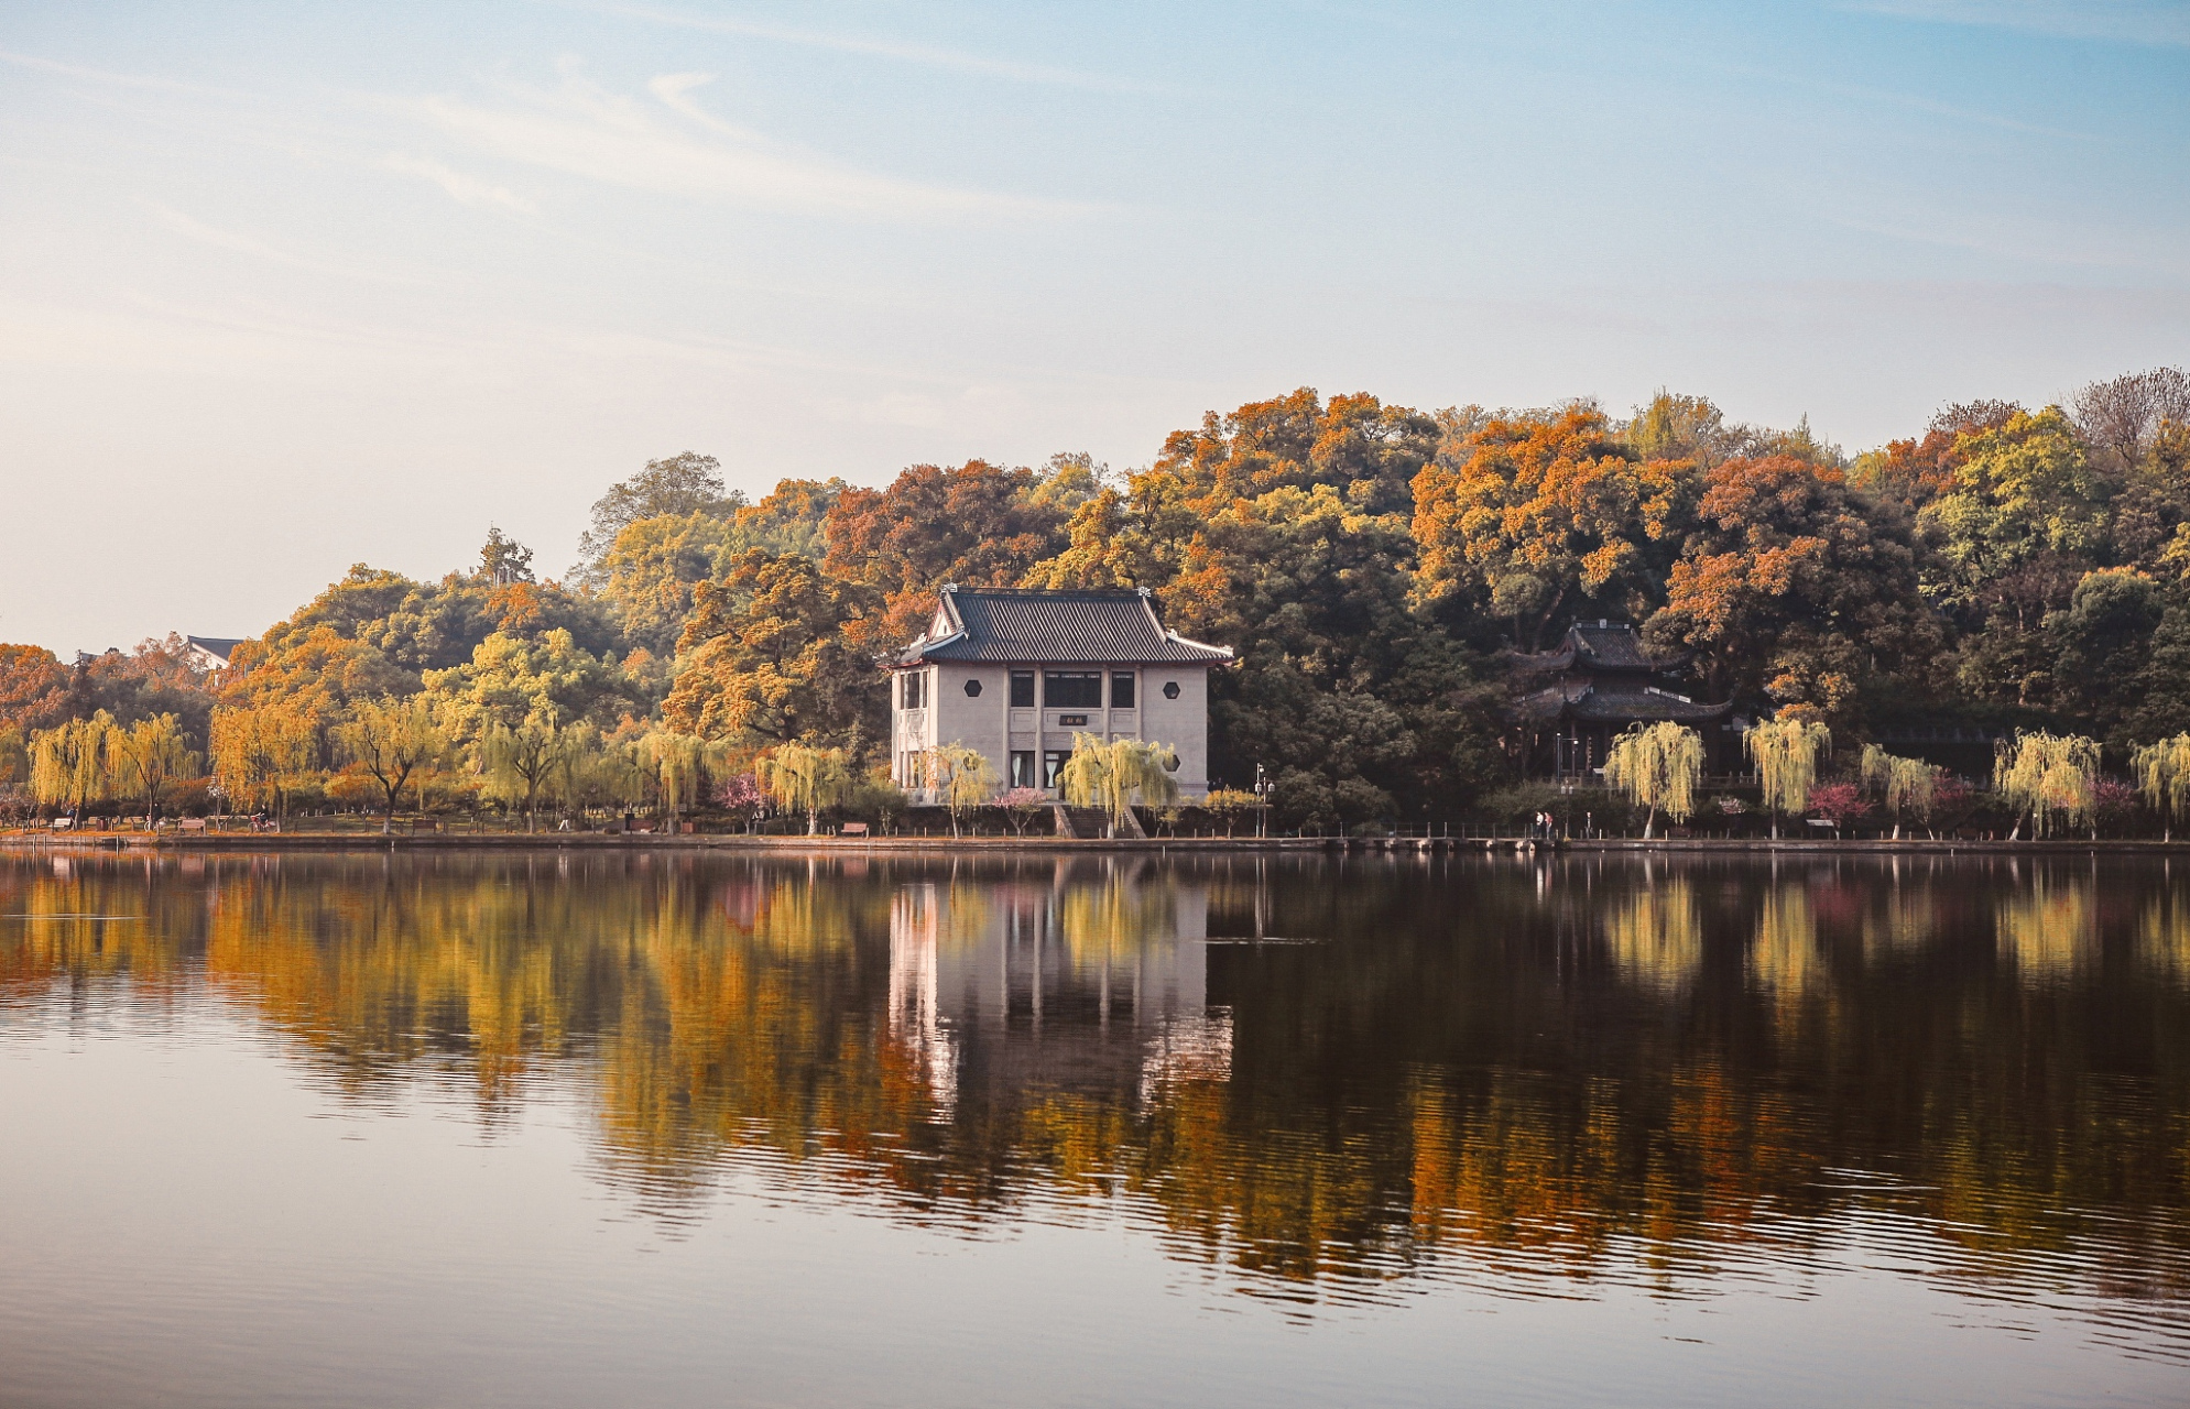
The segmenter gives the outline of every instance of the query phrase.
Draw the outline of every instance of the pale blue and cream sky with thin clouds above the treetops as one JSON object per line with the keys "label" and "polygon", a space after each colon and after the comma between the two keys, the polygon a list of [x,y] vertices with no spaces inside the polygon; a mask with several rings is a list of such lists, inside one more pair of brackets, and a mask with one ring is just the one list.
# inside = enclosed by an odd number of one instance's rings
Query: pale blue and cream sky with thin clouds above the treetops
{"label": "pale blue and cream sky with thin clouds above the treetops", "polygon": [[2190,361],[2186,177],[2177,0],[13,0],[0,641],[1301,385],[1862,451]]}

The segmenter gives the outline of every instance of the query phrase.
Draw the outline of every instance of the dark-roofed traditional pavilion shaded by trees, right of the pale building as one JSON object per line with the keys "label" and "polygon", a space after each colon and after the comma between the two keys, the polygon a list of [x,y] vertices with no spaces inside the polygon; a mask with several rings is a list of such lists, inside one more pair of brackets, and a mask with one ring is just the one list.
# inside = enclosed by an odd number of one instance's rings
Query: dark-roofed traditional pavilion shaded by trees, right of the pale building
{"label": "dark-roofed traditional pavilion shaded by trees, right of the pale building", "polygon": [[1673,689],[1686,656],[1653,659],[1634,626],[1577,621],[1548,652],[1520,656],[1513,722],[1531,777],[1590,781],[1612,740],[1636,724],[1675,722],[1704,735],[1708,772],[1728,772],[1739,740],[1732,702],[1706,704]]}

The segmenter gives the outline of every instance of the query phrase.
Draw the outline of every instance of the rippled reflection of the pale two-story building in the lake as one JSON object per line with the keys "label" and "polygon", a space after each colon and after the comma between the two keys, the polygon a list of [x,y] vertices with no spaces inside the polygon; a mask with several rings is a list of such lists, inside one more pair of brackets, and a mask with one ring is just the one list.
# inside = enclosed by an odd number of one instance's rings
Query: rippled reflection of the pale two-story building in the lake
{"label": "rippled reflection of the pale two-story building in the lake", "polygon": [[889,908],[889,1024],[942,1114],[1047,1092],[1148,1098],[1229,1070],[1207,890],[1060,862],[1049,884],[918,882]]}

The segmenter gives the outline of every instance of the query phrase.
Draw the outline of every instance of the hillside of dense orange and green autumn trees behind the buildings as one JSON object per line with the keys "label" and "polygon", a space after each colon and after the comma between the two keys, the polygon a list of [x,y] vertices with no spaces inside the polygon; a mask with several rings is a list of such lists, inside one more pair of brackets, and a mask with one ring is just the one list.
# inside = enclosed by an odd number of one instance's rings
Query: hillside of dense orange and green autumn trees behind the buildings
{"label": "hillside of dense orange and green autumn trees behind the buildings", "polygon": [[1695,396],[1618,418],[1305,387],[1211,411],[1130,473],[972,459],[747,501],[685,453],[609,486],[561,578],[502,534],[438,582],[357,564],[217,678],[180,639],[81,665],[4,645],[0,777],[28,779],[35,731],[171,715],[186,753],[287,748],[261,772],[339,796],[342,775],[304,775],[388,700],[447,737],[423,775],[447,788],[528,724],[699,740],[714,772],[797,744],[863,766],[887,740],[874,659],[944,582],[1152,589],[1240,654],[1213,683],[1213,777],[1266,766],[1294,825],[1445,818],[1509,785],[1507,659],[1594,617],[1759,718],[1811,707],[1844,742],[2087,733],[2120,770],[2190,729],[2186,462],[2172,370],[2061,407],[1951,405],[1855,457]]}

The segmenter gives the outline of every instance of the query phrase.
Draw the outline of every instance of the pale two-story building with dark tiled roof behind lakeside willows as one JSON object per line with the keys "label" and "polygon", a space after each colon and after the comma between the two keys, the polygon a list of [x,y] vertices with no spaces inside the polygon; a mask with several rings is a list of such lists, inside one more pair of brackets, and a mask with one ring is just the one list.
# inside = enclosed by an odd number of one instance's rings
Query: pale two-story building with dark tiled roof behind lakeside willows
{"label": "pale two-story building with dark tiled roof behind lakeside willows", "polygon": [[1073,735],[1178,753],[1178,792],[1209,792],[1209,667],[1224,645],[1165,630],[1148,591],[1045,593],[944,586],[929,630],[889,659],[891,772],[966,744],[1005,788],[1056,792]]}

